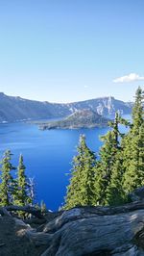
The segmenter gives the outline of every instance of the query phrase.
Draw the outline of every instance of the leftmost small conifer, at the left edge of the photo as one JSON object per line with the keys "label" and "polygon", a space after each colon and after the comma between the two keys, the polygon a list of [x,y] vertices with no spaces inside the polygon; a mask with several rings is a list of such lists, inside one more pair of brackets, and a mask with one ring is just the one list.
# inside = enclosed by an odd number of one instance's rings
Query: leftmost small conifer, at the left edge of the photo
{"label": "leftmost small conifer, at the left edge of the photo", "polygon": [[13,178],[12,169],[15,169],[11,163],[12,153],[7,150],[1,162],[1,184],[0,184],[0,205],[8,206],[12,204]]}

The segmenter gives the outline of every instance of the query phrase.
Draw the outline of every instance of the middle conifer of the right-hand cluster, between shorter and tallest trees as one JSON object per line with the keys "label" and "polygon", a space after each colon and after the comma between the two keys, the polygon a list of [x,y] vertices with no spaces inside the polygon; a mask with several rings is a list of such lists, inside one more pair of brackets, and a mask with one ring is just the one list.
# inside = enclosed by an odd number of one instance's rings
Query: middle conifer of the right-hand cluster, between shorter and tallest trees
{"label": "middle conifer of the right-hand cluster, between shorter and tallest trees", "polygon": [[[116,113],[114,121],[109,122],[111,130],[101,138],[104,144],[100,149],[100,160],[96,168],[95,183],[96,201],[100,205],[112,204],[116,184],[119,189],[121,187],[119,177],[122,175],[123,169],[121,166],[120,152],[122,153],[122,149],[120,138],[124,135],[119,131],[119,124],[129,125],[129,122]],[[118,196],[119,200],[121,200],[121,193]]]}

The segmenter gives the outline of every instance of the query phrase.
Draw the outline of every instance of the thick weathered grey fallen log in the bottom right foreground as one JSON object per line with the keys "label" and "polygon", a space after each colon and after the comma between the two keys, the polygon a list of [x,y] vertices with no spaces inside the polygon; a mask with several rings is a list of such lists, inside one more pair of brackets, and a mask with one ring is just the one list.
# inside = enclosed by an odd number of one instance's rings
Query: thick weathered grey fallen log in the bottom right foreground
{"label": "thick weathered grey fallen log in the bottom right foreground", "polygon": [[[73,211],[67,213],[69,217]],[[138,243],[144,234],[144,209],[111,216],[86,215],[85,209],[85,216],[69,217],[65,213],[61,219],[56,219],[55,232],[54,226],[52,229],[49,226],[48,232],[45,228],[49,235],[52,231],[54,233],[50,245],[41,256],[144,255],[144,246]]]}

